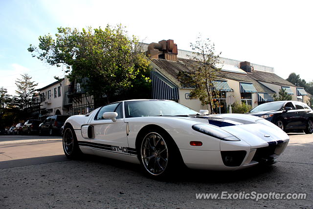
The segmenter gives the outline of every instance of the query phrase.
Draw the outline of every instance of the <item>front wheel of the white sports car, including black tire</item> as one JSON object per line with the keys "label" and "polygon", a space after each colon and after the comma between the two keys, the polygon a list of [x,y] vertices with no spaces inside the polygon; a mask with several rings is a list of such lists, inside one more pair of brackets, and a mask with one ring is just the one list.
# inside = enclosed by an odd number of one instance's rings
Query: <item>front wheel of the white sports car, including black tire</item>
{"label": "front wheel of the white sports car, including black tire", "polygon": [[175,174],[181,158],[173,139],[162,130],[151,130],[142,136],[137,151],[143,171],[156,180]]}

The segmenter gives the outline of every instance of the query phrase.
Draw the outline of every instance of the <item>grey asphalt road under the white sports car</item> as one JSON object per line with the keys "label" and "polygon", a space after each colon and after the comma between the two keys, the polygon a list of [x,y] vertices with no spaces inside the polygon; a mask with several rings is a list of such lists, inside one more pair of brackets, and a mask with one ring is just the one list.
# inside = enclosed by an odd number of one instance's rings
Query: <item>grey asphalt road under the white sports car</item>
{"label": "grey asphalt road under the white sports car", "polygon": [[[290,134],[279,162],[236,172],[182,170],[154,181],[136,164],[70,161],[60,137],[0,136],[0,208],[313,208],[313,135]],[[196,199],[196,193],[307,193],[306,200]]]}

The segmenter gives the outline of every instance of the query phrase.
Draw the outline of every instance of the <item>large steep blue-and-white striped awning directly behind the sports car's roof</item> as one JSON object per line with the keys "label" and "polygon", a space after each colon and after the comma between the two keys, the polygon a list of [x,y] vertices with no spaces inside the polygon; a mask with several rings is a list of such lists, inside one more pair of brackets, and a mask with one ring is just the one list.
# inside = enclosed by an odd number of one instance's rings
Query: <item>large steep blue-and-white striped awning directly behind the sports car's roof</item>
{"label": "large steep blue-and-white striped awning directly behind the sports car's roof", "polygon": [[152,98],[153,99],[168,99],[178,100],[178,88],[167,81],[159,73],[152,71]]}

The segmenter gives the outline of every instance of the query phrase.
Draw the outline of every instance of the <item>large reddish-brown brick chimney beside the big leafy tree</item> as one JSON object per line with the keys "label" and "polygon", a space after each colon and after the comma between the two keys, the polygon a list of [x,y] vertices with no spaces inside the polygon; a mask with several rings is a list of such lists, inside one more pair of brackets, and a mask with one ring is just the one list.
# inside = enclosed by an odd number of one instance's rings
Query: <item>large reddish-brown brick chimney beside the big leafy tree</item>
{"label": "large reddish-brown brick chimney beside the big leafy tree", "polygon": [[146,55],[150,55],[151,58],[172,61],[177,61],[177,54],[177,44],[171,39],[167,41],[162,40],[158,43],[151,43],[146,51]]}

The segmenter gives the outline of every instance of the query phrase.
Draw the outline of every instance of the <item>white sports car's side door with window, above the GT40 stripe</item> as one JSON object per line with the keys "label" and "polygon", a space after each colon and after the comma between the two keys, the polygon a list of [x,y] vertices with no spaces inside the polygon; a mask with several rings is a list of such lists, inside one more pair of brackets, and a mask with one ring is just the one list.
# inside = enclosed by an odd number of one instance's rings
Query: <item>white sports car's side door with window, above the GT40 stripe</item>
{"label": "white sports car's side door with window, above the GT40 stripe", "polygon": [[[103,113],[116,112],[116,121],[105,119]],[[123,117],[123,102],[117,102],[103,106],[98,113],[89,121],[93,126],[94,138],[91,143],[99,149],[128,154],[128,141],[126,136],[126,123]]]}

